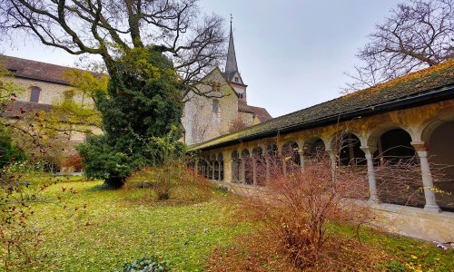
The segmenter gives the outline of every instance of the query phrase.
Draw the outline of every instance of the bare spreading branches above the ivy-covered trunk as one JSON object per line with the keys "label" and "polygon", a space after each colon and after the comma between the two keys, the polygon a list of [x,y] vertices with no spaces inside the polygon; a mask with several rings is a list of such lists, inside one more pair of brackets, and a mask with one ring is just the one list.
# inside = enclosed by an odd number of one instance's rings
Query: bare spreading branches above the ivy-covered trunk
{"label": "bare spreading branches above the ivy-covered trunk", "polygon": [[7,38],[23,31],[67,53],[101,55],[111,75],[119,53],[153,46],[172,58],[189,92],[224,56],[222,18],[201,19],[197,2],[0,0],[0,32]]}

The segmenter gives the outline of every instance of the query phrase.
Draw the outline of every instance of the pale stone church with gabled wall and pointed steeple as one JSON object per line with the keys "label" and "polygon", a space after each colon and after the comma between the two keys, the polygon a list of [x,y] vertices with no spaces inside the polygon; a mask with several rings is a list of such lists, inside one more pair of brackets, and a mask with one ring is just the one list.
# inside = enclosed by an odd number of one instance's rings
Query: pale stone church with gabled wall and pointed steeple
{"label": "pale stone church with gabled wall and pointed steeple", "polygon": [[238,70],[232,25],[224,72],[219,68],[206,75],[196,88],[206,93],[190,92],[183,111],[184,142],[188,145],[209,141],[233,131],[271,120],[261,107],[248,105],[247,85]]}

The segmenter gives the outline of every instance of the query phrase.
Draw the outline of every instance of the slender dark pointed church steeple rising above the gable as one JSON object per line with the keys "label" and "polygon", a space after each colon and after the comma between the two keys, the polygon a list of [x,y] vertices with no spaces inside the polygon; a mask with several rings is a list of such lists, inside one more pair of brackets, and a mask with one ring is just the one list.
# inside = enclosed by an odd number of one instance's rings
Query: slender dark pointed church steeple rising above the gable
{"label": "slender dark pointed church steeple rising above the gable", "polygon": [[224,76],[227,82],[232,84],[238,97],[246,102],[246,87],[248,85],[242,82],[242,75],[238,71],[238,64],[236,63],[235,45],[233,44],[232,17],[230,20],[229,49],[227,51]]}

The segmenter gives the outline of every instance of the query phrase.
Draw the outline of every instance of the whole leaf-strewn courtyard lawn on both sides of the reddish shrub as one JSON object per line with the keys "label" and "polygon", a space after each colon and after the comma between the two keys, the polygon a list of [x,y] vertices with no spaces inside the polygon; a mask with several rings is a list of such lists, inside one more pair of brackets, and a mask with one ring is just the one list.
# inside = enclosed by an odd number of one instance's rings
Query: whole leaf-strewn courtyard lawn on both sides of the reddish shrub
{"label": "whole leaf-strewn courtyard lawn on both sides of the reddish shrub", "polygon": [[[143,201],[144,194],[146,189],[103,189],[102,181],[80,177],[61,179],[45,189],[42,197],[53,204],[34,204],[32,220],[44,228],[44,241],[40,262],[28,270],[112,271],[150,256],[164,260],[172,271],[293,269],[272,239],[252,235],[260,222],[238,217],[231,194],[213,189],[209,200],[189,204]],[[355,235],[342,226],[330,226],[330,231],[341,238]],[[372,270],[454,271],[454,249],[371,230],[361,231],[360,241],[362,245],[353,246],[360,247],[355,250],[361,255],[377,255]],[[356,253],[350,253],[341,257],[354,262]]]}

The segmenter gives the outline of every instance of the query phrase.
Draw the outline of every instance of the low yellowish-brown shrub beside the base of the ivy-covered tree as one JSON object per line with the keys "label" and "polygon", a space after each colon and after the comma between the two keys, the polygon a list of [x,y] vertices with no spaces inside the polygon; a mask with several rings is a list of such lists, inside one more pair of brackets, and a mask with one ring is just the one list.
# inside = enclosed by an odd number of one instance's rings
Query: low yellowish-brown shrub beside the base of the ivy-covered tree
{"label": "low yellowish-brown shrub beside the base of the ivy-covered tree", "polygon": [[140,198],[145,201],[200,202],[212,194],[209,182],[178,160],[134,172],[123,189],[143,189]]}

